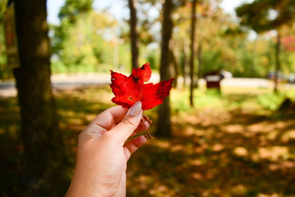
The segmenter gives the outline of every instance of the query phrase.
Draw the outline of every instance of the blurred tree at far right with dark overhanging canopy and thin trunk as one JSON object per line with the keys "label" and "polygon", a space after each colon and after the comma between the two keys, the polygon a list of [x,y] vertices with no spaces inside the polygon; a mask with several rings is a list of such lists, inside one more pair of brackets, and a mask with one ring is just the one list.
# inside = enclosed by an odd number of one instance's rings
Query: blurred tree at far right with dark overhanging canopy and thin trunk
{"label": "blurred tree at far right with dark overhanging canopy and thin trunk", "polygon": [[243,4],[236,8],[240,24],[252,28],[257,33],[277,30],[275,86],[277,92],[277,77],[280,69],[280,30],[283,24],[292,24],[295,20],[294,0],[255,0],[250,4]]}

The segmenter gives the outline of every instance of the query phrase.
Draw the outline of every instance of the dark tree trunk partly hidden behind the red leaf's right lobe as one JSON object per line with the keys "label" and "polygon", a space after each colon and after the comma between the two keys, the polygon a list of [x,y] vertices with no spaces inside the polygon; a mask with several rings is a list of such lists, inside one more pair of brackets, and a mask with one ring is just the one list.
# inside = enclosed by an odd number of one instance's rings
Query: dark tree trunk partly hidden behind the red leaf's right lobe
{"label": "dark tree trunk partly hidden behind the red leaf's right lobe", "polygon": [[[172,35],[173,23],[171,12],[173,9],[172,0],[166,0],[163,6],[164,20],[162,25],[162,46],[161,46],[161,65],[160,65],[160,81],[165,81],[170,78],[169,72],[169,41]],[[169,96],[163,100],[163,104],[159,106],[159,118],[155,135],[156,136],[171,136],[171,119],[170,119],[170,101]]]}

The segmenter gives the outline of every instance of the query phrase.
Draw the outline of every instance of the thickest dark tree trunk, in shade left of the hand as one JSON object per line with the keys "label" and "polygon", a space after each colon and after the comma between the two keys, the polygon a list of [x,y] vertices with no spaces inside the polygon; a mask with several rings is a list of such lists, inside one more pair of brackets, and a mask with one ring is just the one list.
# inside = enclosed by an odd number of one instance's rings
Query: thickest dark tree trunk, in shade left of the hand
{"label": "thickest dark tree trunk, in shade left of the hand", "polygon": [[[46,0],[15,0],[20,67],[14,69],[21,114],[28,196],[66,192],[62,134],[50,85],[50,44]],[[62,194],[61,194],[62,192]]]}

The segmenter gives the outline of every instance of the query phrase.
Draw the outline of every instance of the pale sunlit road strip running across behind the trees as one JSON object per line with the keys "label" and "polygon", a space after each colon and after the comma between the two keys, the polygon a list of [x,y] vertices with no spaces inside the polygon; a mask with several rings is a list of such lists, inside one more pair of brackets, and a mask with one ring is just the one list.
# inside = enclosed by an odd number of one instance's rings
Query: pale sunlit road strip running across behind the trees
{"label": "pale sunlit road strip running across behind the trees", "polygon": [[[149,82],[158,83],[159,74],[152,74]],[[178,78],[178,84],[183,84],[183,78]],[[110,84],[111,78],[109,74],[99,73],[77,73],[77,74],[53,74],[51,76],[52,87],[57,90],[80,88],[89,85]],[[186,79],[186,83],[190,83]],[[200,79],[199,84],[205,85],[205,80]],[[241,87],[241,88],[272,88],[273,82],[260,78],[226,78],[221,81],[222,87]],[[295,84],[285,84],[284,88],[294,89]],[[0,97],[12,97],[17,95],[14,80],[0,81]]]}

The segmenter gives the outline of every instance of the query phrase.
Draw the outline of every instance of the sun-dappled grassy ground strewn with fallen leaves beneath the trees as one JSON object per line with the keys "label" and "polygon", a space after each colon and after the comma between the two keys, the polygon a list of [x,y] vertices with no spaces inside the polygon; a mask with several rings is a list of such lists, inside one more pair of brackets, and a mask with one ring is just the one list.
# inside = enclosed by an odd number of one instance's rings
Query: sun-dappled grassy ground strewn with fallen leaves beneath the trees
{"label": "sun-dappled grassy ground strewn with fallen leaves beneath the trees", "polygon": [[[148,139],[127,164],[126,196],[295,196],[295,111],[277,110],[295,93],[269,89],[171,91],[173,137]],[[78,134],[114,106],[109,86],[55,91],[74,166]],[[17,183],[23,152],[16,98],[0,99],[0,194]],[[157,109],[144,112],[157,124]],[[69,176],[73,167],[69,169]],[[5,180],[5,181],[4,181]],[[62,196],[63,194],[61,194]]]}

